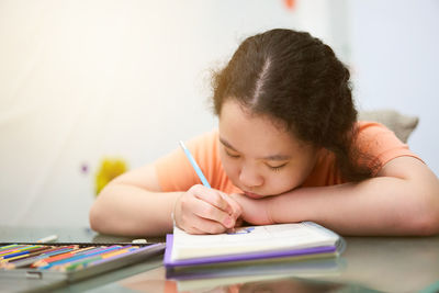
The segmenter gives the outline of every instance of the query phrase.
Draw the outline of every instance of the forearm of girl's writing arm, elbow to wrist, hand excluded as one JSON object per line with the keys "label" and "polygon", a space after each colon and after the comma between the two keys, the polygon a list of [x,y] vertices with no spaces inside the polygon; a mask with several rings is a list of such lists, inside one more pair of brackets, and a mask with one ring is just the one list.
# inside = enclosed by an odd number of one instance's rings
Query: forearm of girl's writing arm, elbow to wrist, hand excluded
{"label": "forearm of girl's writing arm, elbow to wrist, hand excluded", "polygon": [[110,183],[90,211],[91,227],[100,233],[153,236],[172,232],[171,212],[181,192],[149,192]]}

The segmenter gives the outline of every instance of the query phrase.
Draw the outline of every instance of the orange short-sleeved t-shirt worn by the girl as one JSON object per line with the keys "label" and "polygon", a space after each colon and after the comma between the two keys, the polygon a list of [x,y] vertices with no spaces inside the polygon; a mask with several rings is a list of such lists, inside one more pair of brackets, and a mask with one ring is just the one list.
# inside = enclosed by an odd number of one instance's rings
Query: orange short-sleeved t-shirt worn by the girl
{"label": "orange short-sleeved t-shirt worn by the girl", "polygon": [[[384,166],[390,160],[402,156],[418,158],[408,149],[406,144],[402,143],[384,125],[375,122],[359,122],[358,126],[357,144],[359,148],[375,158],[379,166]],[[213,189],[225,193],[241,192],[232,183],[223,169],[219,159],[217,131],[194,138],[187,146]],[[325,187],[344,183],[345,181],[341,179],[341,174],[335,164],[335,156],[329,151],[320,154],[314,170],[305,180],[303,187]],[[176,149],[158,159],[155,162],[155,167],[159,184],[165,192],[187,191],[192,185],[201,183],[181,149]]]}

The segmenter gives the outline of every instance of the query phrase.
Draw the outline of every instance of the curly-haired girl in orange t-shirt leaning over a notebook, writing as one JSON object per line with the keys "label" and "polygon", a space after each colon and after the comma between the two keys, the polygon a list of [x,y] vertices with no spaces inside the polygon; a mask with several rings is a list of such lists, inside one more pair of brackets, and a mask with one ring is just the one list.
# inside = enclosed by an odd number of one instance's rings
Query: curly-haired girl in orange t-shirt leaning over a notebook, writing
{"label": "curly-haired girl in orange t-shirt leaning over a notebook, writing", "polygon": [[439,181],[383,125],[357,122],[348,69],[307,33],[248,37],[213,78],[218,131],[109,183],[94,230],[164,235],[313,221],[344,235],[439,232]]}

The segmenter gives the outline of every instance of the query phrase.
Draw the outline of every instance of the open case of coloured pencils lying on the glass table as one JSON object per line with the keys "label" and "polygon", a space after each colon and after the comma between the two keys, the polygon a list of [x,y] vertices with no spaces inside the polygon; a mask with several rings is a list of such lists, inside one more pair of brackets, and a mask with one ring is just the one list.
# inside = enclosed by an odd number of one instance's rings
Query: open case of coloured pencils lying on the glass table
{"label": "open case of coloured pencils lying on the glass table", "polygon": [[75,282],[162,253],[165,244],[0,243],[0,278]]}

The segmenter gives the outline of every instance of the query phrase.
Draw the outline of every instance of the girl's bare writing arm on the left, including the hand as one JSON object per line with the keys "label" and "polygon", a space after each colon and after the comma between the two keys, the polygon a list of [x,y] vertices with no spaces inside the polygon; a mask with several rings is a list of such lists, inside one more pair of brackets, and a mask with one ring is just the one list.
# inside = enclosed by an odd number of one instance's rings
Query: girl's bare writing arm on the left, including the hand
{"label": "girl's bare writing arm on the left, including the hand", "polygon": [[153,165],[111,181],[90,210],[90,225],[104,234],[153,236],[177,225],[195,234],[221,233],[235,225],[240,207],[222,192],[194,185],[187,192],[162,192]]}

